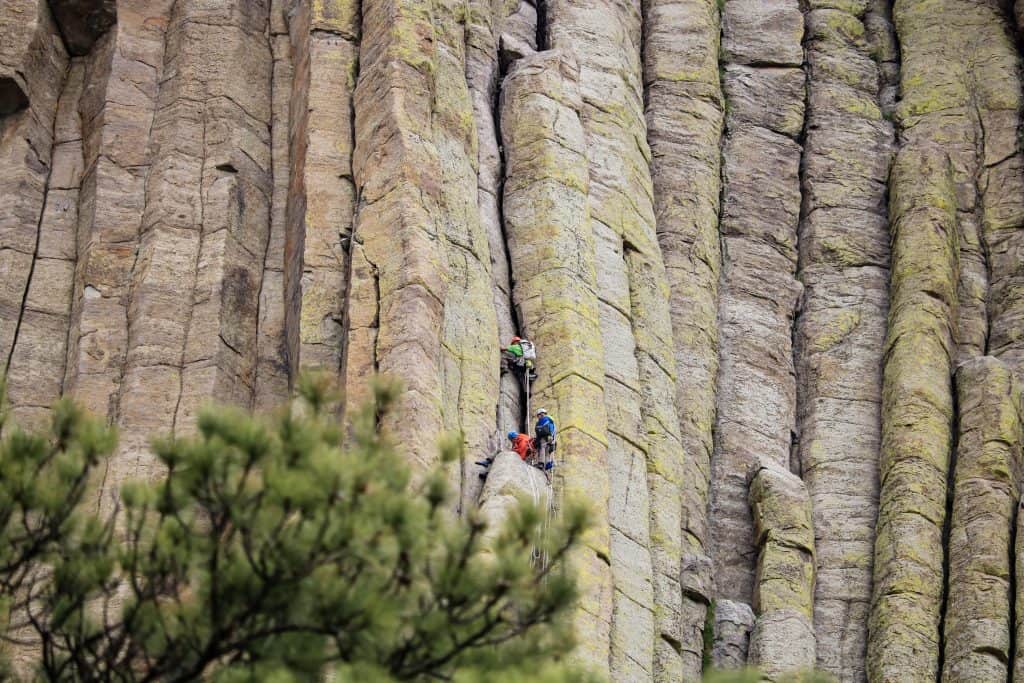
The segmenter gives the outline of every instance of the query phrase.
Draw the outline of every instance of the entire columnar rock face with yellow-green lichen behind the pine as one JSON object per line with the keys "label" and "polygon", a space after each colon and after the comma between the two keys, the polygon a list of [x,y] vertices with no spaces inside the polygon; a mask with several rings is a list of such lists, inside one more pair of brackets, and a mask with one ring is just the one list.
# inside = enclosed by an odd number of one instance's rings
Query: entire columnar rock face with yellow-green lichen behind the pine
{"label": "entire columnar rock face with yellow-green lichen behind the pine", "polygon": [[473,461],[543,405],[553,505],[594,508],[587,667],[1020,677],[1021,17],[5,0],[12,414],[119,427],[109,511],[203,402],[319,370],[354,405],[383,373],[414,468],[461,433],[456,512],[500,516],[543,477]]}

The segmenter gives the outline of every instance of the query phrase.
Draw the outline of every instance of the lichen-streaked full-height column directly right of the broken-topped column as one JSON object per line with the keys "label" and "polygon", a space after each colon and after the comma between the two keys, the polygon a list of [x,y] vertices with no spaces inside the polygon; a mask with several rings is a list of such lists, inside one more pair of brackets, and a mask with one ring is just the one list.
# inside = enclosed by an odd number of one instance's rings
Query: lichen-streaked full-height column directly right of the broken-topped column
{"label": "lichen-streaked full-height column directly right of the broken-topped column", "polygon": [[616,589],[611,671],[623,680],[670,680],[682,672],[683,458],[669,283],[646,144],[639,9],[603,0],[550,2],[546,27],[553,47],[580,59],[605,348]]}

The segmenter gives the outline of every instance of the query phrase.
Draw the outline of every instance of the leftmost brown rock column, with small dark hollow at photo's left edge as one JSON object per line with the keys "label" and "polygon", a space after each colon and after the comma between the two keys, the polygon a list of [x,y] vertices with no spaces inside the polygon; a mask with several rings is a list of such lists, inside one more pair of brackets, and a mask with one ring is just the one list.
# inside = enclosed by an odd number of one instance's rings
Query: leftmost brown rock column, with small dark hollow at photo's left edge
{"label": "leftmost brown rock column, with small dark hollow at photo's left edge", "polygon": [[5,0],[0,5],[0,357],[5,372],[39,254],[67,71],[68,53],[45,0]]}

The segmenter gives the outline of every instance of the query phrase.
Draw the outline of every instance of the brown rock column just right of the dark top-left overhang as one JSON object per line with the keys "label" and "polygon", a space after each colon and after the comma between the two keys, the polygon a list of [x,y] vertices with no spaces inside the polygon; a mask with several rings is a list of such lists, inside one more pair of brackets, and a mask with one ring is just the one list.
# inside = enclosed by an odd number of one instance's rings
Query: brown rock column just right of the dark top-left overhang
{"label": "brown rock column just right of the dark top-left overhang", "polygon": [[[125,372],[132,269],[153,162],[150,135],[171,1],[120,4],[118,24],[85,60],[79,102],[85,170],[65,378],[67,393],[112,423],[118,421]],[[188,282],[181,278],[176,273],[168,282]],[[175,295],[191,297],[180,288]],[[163,405],[165,415],[173,409]]]}

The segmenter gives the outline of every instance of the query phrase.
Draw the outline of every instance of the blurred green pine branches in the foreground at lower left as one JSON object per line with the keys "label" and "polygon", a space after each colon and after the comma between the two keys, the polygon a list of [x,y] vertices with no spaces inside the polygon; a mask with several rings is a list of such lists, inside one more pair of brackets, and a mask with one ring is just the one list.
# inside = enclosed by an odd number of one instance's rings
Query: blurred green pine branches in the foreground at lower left
{"label": "blurred green pine branches in the foreground at lower left", "polygon": [[583,680],[559,664],[577,597],[559,567],[585,515],[546,533],[554,568],[530,564],[528,506],[484,549],[442,469],[413,484],[378,431],[393,387],[348,429],[323,383],[299,394],[272,420],[210,410],[195,437],[155,442],[167,477],[126,485],[106,519],[88,482],[110,430],[70,402],[48,434],[4,425],[2,612],[38,678]]}

